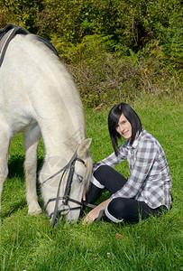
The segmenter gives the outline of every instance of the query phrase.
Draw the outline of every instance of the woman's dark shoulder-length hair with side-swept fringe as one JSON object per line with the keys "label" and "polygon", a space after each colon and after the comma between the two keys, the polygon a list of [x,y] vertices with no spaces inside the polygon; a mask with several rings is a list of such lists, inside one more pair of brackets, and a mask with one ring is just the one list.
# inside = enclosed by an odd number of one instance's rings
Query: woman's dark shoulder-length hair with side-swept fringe
{"label": "woman's dark shoulder-length hair with side-swept fringe", "polygon": [[108,129],[109,134],[111,136],[112,145],[114,148],[114,152],[116,153],[116,149],[118,147],[117,139],[121,138],[121,135],[117,133],[116,126],[118,125],[119,118],[121,115],[124,114],[124,117],[130,122],[132,126],[132,138],[131,138],[131,145],[133,145],[133,141],[137,133],[142,132],[142,123],[141,119],[138,115],[134,112],[133,108],[130,107],[128,104],[120,103],[115,105],[109,112],[108,115]]}

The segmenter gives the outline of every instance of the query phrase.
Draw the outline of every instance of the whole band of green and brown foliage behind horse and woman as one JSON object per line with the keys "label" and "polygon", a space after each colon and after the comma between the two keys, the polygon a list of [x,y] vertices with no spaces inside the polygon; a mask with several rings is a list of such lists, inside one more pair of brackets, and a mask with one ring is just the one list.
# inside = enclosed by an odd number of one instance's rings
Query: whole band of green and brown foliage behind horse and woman
{"label": "whole band of green and brown foliage behind horse and woman", "polygon": [[50,40],[86,105],[150,92],[181,100],[179,0],[0,0],[0,26]]}

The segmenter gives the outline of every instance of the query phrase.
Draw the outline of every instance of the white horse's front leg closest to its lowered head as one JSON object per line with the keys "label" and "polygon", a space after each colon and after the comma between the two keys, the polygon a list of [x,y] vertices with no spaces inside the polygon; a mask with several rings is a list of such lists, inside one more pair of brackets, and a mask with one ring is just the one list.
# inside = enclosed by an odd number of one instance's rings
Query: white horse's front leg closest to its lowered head
{"label": "white horse's front leg closest to its lowered head", "polygon": [[33,129],[32,127],[28,128],[24,133],[24,171],[28,214],[39,214],[41,212],[36,192],[37,152],[40,138],[41,130],[39,126],[35,126]]}

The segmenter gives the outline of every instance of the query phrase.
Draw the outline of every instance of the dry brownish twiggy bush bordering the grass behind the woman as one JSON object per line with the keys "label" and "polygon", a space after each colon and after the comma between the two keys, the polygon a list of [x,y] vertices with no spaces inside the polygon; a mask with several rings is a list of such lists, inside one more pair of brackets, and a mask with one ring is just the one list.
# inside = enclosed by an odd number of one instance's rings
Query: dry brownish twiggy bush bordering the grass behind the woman
{"label": "dry brownish twiggy bush bordering the grass behind the woman", "polygon": [[144,58],[133,51],[131,56],[123,58],[112,53],[96,53],[77,66],[69,64],[69,70],[83,102],[89,107],[111,106],[122,99],[133,100],[142,93],[181,100],[182,84],[178,75],[171,74],[153,56]]}

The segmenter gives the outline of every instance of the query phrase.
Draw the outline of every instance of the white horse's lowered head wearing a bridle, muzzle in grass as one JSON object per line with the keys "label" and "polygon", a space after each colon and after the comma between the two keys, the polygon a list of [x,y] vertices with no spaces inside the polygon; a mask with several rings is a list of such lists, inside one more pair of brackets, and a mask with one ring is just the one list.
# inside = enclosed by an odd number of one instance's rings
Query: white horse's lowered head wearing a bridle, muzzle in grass
{"label": "white horse's lowered head wearing a bridle, muzzle in grass", "polygon": [[40,173],[45,210],[51,225],[58,220],[78,220],[82,208],[82,194],[87,191],[92,172],[92,158],[88,152],[91,139],[78,145],[69,161],[63,157],[45,159]]}

